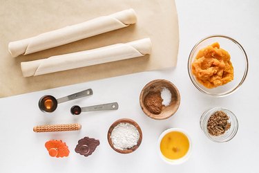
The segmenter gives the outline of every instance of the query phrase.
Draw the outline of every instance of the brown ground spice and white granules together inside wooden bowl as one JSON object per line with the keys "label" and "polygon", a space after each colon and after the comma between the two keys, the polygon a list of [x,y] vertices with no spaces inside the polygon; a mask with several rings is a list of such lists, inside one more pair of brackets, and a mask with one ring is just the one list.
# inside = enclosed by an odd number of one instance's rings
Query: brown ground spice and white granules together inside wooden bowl
{"label": "brown ground spice and white granules together inside wooden bowl", "polygon": [[169,89],[162,88],[161,91],[150,92],[144,99],[146,109],[153,114],[160,114],[163,106],[168,106],[171,103],[171,92]]}

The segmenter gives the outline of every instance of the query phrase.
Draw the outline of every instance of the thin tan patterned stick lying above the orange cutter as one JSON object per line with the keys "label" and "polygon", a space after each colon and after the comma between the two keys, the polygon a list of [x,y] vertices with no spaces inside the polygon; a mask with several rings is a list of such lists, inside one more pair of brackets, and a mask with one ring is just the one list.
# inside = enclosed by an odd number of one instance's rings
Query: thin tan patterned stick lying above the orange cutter
{"label": "thin tan patterned stick lying above the orange cutter", "polygon": [[52,132],[52,131],[75,131],[81,129],[81,125],[77,123],[65,125],[37,125],[33,127],[35,132]]}

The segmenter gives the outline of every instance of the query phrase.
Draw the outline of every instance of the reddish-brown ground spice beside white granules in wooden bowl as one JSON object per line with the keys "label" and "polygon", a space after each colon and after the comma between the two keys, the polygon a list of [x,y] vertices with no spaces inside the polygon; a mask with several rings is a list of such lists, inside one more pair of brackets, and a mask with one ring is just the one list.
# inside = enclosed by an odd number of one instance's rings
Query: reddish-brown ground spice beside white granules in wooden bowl
{"label": "reddish-brown ground spice beside white granules in wooden bowl", "polygon": [[162,101],[160,92],[151,92],[146,95],[144,104],[148,111],[154,114],[159,114],[162,111]]}

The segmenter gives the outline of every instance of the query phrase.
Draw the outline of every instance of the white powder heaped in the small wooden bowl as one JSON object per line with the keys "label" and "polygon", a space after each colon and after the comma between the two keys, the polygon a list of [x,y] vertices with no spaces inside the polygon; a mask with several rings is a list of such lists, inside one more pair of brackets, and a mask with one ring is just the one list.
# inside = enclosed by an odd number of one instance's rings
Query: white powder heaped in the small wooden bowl
{"label": "white powder heaped in the small wooden bowl", "polygon": [[119,123],[111,132],[111,141],[116,149],[126,150],[137,145],[140,133],[134,125],[128,122]]}

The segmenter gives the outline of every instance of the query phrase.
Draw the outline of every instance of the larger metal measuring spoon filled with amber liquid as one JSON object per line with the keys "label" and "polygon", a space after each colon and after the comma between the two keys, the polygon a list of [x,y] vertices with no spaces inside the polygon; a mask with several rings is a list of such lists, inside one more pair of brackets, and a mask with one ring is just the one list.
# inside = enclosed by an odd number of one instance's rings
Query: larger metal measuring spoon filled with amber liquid
{"label": "larger metal measuring spoon filled with amber liquid", "polygon": [[57,104],[59,103],[75,100],[77,98],[83,98],[88,95],[93,95],[92,89],[86,89],[84,91],[73,93],[71,95],[67,95],[63,98],[58,99],[56,99],[52,95],[44,95],[39,99],[39,109],[44,112],[53,112],[57,109]]}

